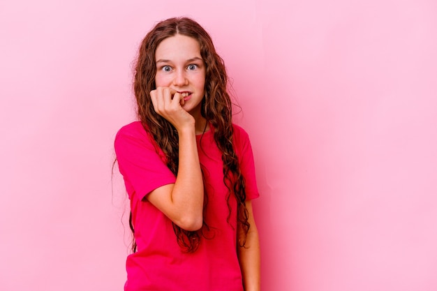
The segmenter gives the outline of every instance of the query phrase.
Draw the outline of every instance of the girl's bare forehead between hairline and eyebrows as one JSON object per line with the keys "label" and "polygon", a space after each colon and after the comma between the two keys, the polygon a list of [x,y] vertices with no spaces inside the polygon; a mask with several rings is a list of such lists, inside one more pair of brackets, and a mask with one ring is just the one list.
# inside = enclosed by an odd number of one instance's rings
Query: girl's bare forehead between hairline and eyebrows
{"label": "girl's bare forehead between hairline and eyebrows", "polygon": [[156,61],[159,59],[193,59],[193,57],[201,57],[200,45],[198,40],[190,36],[182,36],[180,34],[170,36],[161,41],[158,47],[156,47]]}

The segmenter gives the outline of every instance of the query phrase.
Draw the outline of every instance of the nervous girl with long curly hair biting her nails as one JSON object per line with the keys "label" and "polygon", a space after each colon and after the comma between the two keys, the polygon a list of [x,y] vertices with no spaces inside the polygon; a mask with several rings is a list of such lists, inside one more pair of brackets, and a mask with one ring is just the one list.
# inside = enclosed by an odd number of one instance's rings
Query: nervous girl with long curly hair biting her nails
{"label": "nervous girl with long curly hair biting her nails", "polygon": [[228,77],[208,33],[159,22],[140,46],[140,121],[115,151],[131,200],[126,291],[260,290],[258,197],[247,133],[232,124]]}

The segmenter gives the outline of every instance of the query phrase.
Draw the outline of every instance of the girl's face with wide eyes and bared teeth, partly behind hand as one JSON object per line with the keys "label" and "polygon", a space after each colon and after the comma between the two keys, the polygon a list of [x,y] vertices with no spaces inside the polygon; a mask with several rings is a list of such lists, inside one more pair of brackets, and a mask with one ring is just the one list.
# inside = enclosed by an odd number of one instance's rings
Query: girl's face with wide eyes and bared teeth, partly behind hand
{"label": "girl's face with wide eyes and bared teeth, partly behind hand", "polygon": [[156,87],[170,87],[184,94],[182,106],[193,117],[200,118],[205,95],[205,64],[200,45],[189,36],[177,34],[165,38],[156,47]]}

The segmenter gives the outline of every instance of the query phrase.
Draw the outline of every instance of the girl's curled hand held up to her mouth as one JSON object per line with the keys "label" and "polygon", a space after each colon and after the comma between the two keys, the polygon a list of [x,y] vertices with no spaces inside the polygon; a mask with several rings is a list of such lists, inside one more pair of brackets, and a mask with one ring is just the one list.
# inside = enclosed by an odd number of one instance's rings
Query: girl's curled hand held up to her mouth
{"label": "girl's curled hand held up to her mouth", "polygon": [[184,97],[175,89],[158,87],[150,91],[150,97],[155,112],[167,119],[178,131],[186,126],[194,126],[195,119],[182,108]]}

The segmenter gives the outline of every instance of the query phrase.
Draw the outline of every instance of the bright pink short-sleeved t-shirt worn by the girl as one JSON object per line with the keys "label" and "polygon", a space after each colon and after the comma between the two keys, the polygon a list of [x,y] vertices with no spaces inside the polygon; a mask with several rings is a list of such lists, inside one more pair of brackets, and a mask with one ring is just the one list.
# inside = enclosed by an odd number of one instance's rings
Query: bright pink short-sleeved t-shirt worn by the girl
{"label": "bright pink short-sleeved t-shirt worn by the girl", "polygon": [[[258,197],[249,136],[234,125],[234,146],[246,180],[246,199]],[[172,221],[147,200],[145,195],[176,177],[163,162],[163,152],[140,121],[119,130],[115,151],[119,169],[131,200],[138,252],[128,255],[126,291],[189,290],[243,291],[237,258],[237,202],[230,197],[229,215],[223,184],[221,151],[214,142],[214,130],[197,136],[200,164],[207,192],[205,222],[208,239],[202,237],[195,253],[184,253],[177,244]]]}

